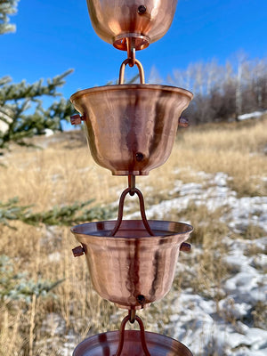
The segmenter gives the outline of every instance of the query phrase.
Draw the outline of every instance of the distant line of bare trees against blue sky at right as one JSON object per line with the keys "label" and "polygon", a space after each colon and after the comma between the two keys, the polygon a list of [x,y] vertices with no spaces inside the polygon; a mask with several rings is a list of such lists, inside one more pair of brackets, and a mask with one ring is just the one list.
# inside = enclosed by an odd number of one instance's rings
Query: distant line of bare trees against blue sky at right
{"label": "distant line of bare trees against blue sky at right", "polygon": [[170,85],[194,93],[183,116],[194,124],[239,120],[239,116],[267,109],[267,59],[248,61],[239,53],[235,61],[193,63],[185,70],[174,69]]}

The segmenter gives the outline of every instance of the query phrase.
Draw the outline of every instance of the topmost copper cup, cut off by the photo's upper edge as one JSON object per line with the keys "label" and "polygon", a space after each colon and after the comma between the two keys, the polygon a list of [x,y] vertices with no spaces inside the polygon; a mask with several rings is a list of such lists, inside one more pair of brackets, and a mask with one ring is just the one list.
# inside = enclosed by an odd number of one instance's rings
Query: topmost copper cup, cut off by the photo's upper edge
{"label": "topmost copper cup, cut off by the photo's upper edge", "polygon": [[96,34],[117,49],[146,48],[166,34],[174,19],[177,0],[87,0]]}

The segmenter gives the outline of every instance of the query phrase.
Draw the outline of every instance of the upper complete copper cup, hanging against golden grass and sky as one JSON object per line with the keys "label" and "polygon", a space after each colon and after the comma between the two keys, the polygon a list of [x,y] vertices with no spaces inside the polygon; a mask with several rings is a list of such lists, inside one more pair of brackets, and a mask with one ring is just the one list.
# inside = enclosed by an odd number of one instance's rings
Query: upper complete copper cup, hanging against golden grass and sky
{"label": "upper complete copper cup, hanging against golden grass and sky", "polygon": [[163,165],[179,117],[193,97],[168,85],[106,85],[73,94],[96,163],[114,175],[146,175]]}

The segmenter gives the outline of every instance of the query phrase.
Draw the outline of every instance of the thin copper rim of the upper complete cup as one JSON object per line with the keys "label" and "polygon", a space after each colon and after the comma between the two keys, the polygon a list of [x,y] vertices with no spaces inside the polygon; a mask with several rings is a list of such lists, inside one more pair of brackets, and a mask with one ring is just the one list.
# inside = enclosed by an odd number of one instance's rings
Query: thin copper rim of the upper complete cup
{"label": "thin copper rim of the upper complete cup", "polygon": [[80,96],[86,95],[93,95],[95,93],[102,93],[102,92],[112,92],[112,91],[127,91],[127,90],[150,90],[150,91],[160,91],[160,92],[168,92],[168,93],[176,93],[176,94],[183,94],[187,96],[190,100],[193,99],[193,93],[191,93],[187,89],[183,89],[177,86],[172,85],[158,85],[158,84],[118,84],[118,85],[102,85],[102,86],[95,86],[93,88],[87,88],[83,90],[77,91],[77,93],[73,93],[70,96],[70,101],[73,102],[78,99]]}

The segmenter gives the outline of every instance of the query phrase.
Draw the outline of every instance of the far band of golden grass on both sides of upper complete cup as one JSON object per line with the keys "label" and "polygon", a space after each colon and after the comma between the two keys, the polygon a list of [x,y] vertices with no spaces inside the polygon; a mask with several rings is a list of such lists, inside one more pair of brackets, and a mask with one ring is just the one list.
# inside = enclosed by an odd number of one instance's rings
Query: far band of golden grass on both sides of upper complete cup
{"label": "far band of golden grass on both sides of upper complete cup", "polygon": [[[256,122],[205,125],[179,129],[174,150],[164,166],[137,178],[141,187],[167,190],[175,179],[195,180],[195,172],[229,174],[241,194],[265,195],[267,117]],[[82,142],[82,143],[81,143]],[[86,147],[84,133],[35,138],[43,150],[13,148],[0,161],[1,200],[14,196],[36,210],[94,198],[107,204],[127,184],[97,166]],[[179,173],[178,173],[179,171]],[[167,177],[167,178],[166,178]],[[158,188],[157,188],[158,187]]]}

